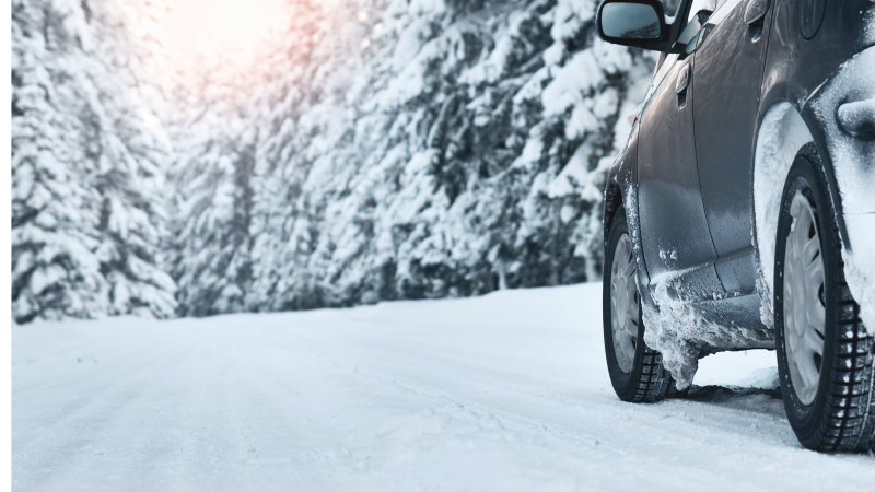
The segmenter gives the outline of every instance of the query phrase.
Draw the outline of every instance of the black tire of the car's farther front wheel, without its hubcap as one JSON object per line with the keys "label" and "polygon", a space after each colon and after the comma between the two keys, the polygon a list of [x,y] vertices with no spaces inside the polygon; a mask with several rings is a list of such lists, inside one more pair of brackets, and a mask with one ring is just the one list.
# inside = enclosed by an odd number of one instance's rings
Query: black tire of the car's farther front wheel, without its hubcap
{"label": "black tire of the car's farther front wheel, without its hubcap", "polygon": [[629,229],[626,222],[626,211],[620,208],[614,215],[608,233],[608,241],[605,245],[606,276],[604,276],[605,279],[603,282],[602,317],[605,331],[605,355],[608,363],[608,373],[610,374],[610,384],[614,386],[614,390],[621,400],[634,403],[653,402],[664,398],[686,396],[687,391],[677,390],[670,374],[663,366],[662,354],[643,342],[644,323],[641,316],[640,300],[638,309],[638,338],[635,341],[635,355],[631,371],[625,373],[617,361],[614,349],[614,330],[611,329],[614,313],[611,313],[612,308],[610,302],[610,276],[617,243],[623,234],[629,234]]}

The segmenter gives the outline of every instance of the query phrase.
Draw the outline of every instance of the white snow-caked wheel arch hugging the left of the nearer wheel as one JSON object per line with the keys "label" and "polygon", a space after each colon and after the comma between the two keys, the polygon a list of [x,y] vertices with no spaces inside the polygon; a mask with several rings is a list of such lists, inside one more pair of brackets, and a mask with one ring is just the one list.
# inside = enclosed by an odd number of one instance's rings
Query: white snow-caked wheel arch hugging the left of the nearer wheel
{"label": "white snow-caked wheel arch hugging the left of the nearer wheel", "polygon": [[772,327],[774,245],[781,194],[800,149],[814,141],[812,132],[790,103],[778,103],[762,118],[754,157],[754,242],[759,258],[758,288],[761,321]]}

